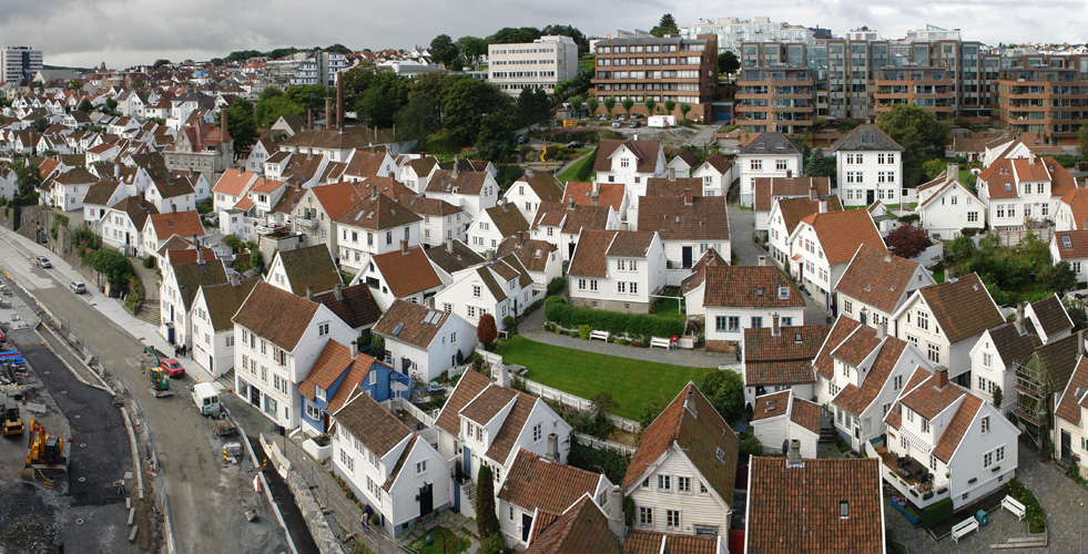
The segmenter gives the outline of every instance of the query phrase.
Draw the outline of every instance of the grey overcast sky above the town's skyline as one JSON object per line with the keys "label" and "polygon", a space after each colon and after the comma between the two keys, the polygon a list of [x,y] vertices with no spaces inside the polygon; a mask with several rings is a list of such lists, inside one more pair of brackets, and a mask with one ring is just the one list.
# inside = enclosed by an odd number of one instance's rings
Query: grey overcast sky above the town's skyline
{"label": "grey overcast sky above the town's skyline", "polygon": [[[502,27],[572,24],[603,37],[653,27],[671,12],[681,25],[699,18],[765,16],[842,35],[860,25],[885,38],[933,23],[963,29],[966,40],[1088,42],[1086,0],[49,0],[0,6],[0,41],[44,50],[51,65],[110,68],[160,58],[207,60],[234,50],[325,47],[373,50],[429,44],[446,33],[486,37]],[[732,6],[730,6],[732,4]]]}

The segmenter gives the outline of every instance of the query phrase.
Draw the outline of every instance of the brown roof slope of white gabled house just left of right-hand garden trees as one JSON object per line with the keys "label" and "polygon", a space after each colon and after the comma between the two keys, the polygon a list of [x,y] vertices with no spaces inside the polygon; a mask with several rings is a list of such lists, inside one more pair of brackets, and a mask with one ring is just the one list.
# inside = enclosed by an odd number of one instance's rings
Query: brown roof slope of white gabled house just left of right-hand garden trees
{"label": "brown roof slope of white gabled house just left of right-hand garden trees", "polygon": [[919,293],[952,343],[1005,322],[986,285],[976,274],[926,287]]}

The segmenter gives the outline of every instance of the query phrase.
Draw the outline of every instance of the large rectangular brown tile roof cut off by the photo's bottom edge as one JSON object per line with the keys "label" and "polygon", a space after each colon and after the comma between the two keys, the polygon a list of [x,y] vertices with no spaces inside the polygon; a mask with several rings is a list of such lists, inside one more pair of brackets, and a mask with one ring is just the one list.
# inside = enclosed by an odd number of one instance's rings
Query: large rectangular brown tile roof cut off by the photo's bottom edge
{"label": "large rectangular brown tile roof cut off by the photo's bottom edge", "polygon": [[[752,459],[748,552],[884,552],[881,462],[876,459]],[[846,502],[848,516],[840,515]]]}

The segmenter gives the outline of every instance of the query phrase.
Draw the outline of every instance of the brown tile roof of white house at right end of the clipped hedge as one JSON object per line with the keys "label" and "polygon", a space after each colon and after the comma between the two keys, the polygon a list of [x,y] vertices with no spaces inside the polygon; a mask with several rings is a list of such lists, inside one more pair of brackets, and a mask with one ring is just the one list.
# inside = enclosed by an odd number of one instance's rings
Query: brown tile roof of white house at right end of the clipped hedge
{"label": "brown tile roof of white house at right end of the clipped hedge", "polygon": [[[576,250],[577,252],[577,250]],[[780,297],[784,287],[786,297]],[[704,306],[803,308],[805,301],[775,266],[711,266],[706,268]]]}

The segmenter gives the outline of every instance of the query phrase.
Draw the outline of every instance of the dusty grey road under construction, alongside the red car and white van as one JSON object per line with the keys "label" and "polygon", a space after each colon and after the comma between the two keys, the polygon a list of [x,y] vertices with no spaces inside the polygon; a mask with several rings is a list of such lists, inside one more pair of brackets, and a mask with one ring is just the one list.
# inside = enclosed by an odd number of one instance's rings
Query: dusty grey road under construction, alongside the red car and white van
{"label": "dusty grey road under construction, alongside the red car and white van", "polygon": [[[101,298],[96,293],[72,294],[67,281],[61,283],[50,270],[34,266],[22,245],[12,246],[8,233],[0,232],[3,269],[77,331],[81,341],[96,353],[108,377],[123,382],[138,404],[142,417],[134,424],[138,432],[148,431],[157,452],[177,551],[209,552],[209,545],[220,545],[223,552],[238,552],[242,542],[251,542],[254,536],[260,536],[263,544],[251,543],[247,547],[287,551],[286,538],[274,517],[250,524],[270,526],[258,535],[240,534],[232,525],[224,525],[236,521],[248,507],[267,506],[251,485],[255,472],[248,461],[224,465],[221,452],[224,441],[212,433],[211,422],[197,413],[190,400],[195,382],[191,378],[172,380],[174,397],[153,398],[148,390],[145,368],[150,361],[143,355],[143,345],[92,307],[96,301],[115,300]],[[142,425],[145,429],[140,429]],[[124,460],[130,459],[125,452]],[[145,475],[145,479],[152,478]]]}

